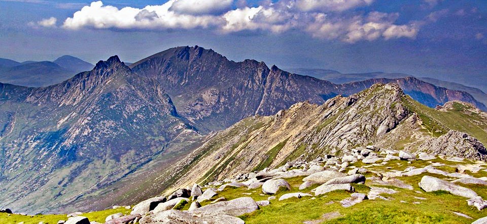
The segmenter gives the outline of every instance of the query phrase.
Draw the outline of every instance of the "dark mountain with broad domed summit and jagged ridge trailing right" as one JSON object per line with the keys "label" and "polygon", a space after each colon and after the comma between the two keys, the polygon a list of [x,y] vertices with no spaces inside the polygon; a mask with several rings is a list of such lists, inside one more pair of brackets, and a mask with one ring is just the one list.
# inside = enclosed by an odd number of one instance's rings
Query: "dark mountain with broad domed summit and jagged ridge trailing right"
{"label": "dark mountain with broad domed summit and jagged ridge trailing right", "polygon": [[[145,77],[158,80],[180,114],[200,124],[202,130],[219,130],[252,115],[271,115],[296,102],[323,104],[337,95],[351,95],[382,81],[333,84],[310,76],[291,74],[263,62],[233,62],[212,50],[178,47],[130,65]],[[416,80],[414,84],[420,82]],[[426,83],[426,82],[424,82]],[[430,89],[433,87],[434,89]],[[416,93],[416,90],[419,92]],[[469,94],[429,85],[412,89],[413,98],[434,107],[451,100],[485,106]],[[423,102],[424,101],[424,102]]]}

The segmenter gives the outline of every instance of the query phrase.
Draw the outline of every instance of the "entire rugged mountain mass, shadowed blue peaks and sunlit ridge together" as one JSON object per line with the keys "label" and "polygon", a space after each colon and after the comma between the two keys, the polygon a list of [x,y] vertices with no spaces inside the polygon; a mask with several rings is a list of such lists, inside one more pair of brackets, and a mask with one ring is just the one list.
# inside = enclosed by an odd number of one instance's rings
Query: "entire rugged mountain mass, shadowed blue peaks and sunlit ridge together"
{"label": "entire rugged mountain mass, shadowed blue peaks and sunlit ridge together", "polygon": [[[395,84],[377,85],[391,82]],[[371,86],[375,87],[363,92]],[[361,103],[356,103],[359,100]],[[298,106],[309,110],[280,112],[305,101]],[[469,104],[454,104],[453,110],[460,108],[460,112],[448,115],[448,119],[465,120],[462,116],[470,115],[478,128],[467,128],[471,126],[467,121],[460,126],[445,123],[442,119],[446,117],[432,115],[437,113],[433,107],[449,101]],[[255,151],[260,156],[255,158],[259,159],[239,159],[247,161],[249,167],[260,167],[262,158],[266,158],[266,165],[275,165],[290,156],[291,149],[296,148],[303,136],[290,130],[296,136],[279,136],[262,143],[249,141],[260,138],[256,130],[271,127],[280,113],[304,119],[298,122],[303,128],[312,127],[303,132],[303,135],[310,133],[310,139],[301,140],[307,145],[297,147],[303,152],[320,149],[317,153],[329,150],[340,153],[347,147],[371,141],[394,148],[410,144],[400,139],[404,137],[400,133],[389,135],[396,130],[422,133],[418,138],[431,145],[452,129],[470,133],[485,143],[485,119],[478,118],[484,114],[474,108],[486,109],[466,92],[413,77],[334,84],[292,74],[276,66],[269,68],[255,60],[233,62],[198,46],[172,48],[130,66],[114,56],[98,62],[91,71],[78,73],[59,84],[46,87],[0,84],[0,147],[3,149],[0,156],[4,158],[0,161],[0,207],[24,212],[58,212],[105,208],[116,202],[134,203],[170,189],[173,183],[189,180],[175,177],[189,174],[180,172],[187,171],[185,163],[196,164],[204,170],[210,166],[193,162],[213,158],[228,165],[239,156],[240,151],[235,150],[247,152],[257,149],[259,144],[271,146],[279,141],[277,145],[282,146],[277,148],[288,149],[283,151],[287,154],[276,154],[279,160],[274,161],[275,156],[271,156],[275,152],[268,154],[268,147]],[[463,111],[468,114],[462,115]],[[462,116],[456,115],[459,113]],[[267,117],[270,115],[275,116]],[[239,122],[244,118],[247,119]],[[316,124],[308,126],[308,122]],[[234,124],[237,126],[219,132]],[[265,130],[272,136],[272,131],[285,129],[286,125],[289,123]],[[315,127],[321,128],[317,131]],[[345,127],[357,131],[346,133],[333,129]],[[225,133],[231,135],[223,139],[221,135]],[[249,135],[240,136],[245,133]],[[397,140],[403,145],[381,143],[378,137],[386,135],[391,136],[390,141]],[[251,148],[244,147],[247,142]],[[216,143],[230,147],[217,149]],[[219,153],[212,157],[197,154],[212,145],[208,152],[220,150]],[[216,171],[211,173],[199,172],[198,178],[211,180],[221,176],[222,171],[230,173],[227,165],[214,167]],[[179,167],[179,171],[171,171],[170,167]],[[154,183],[154,180],[163,181]]]}

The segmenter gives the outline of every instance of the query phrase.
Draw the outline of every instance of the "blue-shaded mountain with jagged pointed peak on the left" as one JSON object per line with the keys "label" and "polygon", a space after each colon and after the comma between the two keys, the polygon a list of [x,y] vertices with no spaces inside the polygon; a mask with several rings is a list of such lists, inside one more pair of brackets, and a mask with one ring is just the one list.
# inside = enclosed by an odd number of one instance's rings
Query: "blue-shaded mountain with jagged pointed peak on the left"
{"label": "blue-shaded mountain with jagged pointed peak on the left", "polygon": [[118,57],[57,85],[1,90],[0,207],[62,210],[168,153],[182,133],[197,136],[164,89]]}

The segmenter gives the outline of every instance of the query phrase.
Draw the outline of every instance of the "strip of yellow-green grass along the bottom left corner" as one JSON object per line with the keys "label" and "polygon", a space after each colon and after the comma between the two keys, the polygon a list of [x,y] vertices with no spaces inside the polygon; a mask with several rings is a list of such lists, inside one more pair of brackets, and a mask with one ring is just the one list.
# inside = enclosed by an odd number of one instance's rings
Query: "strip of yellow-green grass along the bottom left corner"
{"label": "strip of yellow-green grass along the bottom left corner", "polygon": [[[95,211],[83,213],[81,216],[87,217],[90,221],[97,221],[100,223],[105,223],[105,218],[111,214],[122,212],[123,214],[129,214],[130,209],[125,209],[124,207],[117,209],[108,209],[103,211]],[[46,224],[56,224],[59,220],[67,220],[65,214],[55,215],[55,214],[39,214],[39,215],[18,215],[11,214],[8,216],[6,213],[0,213],[0,223],[2,224],[16,224],[19,222],[24,222],[24,224],[38,224],[44,221]]]}

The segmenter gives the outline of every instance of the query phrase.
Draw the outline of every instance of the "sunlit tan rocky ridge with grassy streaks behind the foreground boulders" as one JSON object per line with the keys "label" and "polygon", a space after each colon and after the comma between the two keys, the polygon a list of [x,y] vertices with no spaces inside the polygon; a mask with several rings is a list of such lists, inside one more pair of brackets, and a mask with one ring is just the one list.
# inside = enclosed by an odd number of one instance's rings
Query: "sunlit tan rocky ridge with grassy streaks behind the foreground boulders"
{"label": "sunlit tan rocky ridge with grassy streaks behind the foreground boulders", "polygon": [[[397,84],[375,84],[359,94],[338,96],[323,105],[298,103],[273,116],[243,119],[208,138],[167,171],[165,180],[177,180],[174,186],[204,184],[289,161],[342,155],[367,145],[432,152],[434,149],[428,145],[435,145],[439,139],[463,147],[463,151],[436,153],[487,159],[482,145],[487,143],[487,114],[461,102],[447,105],[457,109],[447,106],[434,111],[404,95]],[[477,128],[470,128],[473,125]],[[445,139],[451,133],[460,133],[458,130],[467,133]]]}

